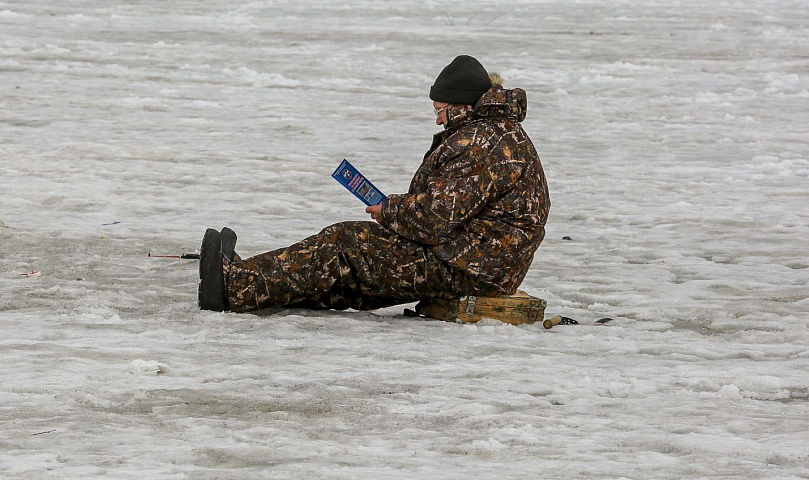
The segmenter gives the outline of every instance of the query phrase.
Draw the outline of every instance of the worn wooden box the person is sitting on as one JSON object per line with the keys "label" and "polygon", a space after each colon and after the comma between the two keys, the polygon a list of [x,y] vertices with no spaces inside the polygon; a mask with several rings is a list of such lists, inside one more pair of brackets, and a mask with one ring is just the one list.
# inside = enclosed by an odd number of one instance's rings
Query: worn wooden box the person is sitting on
{"label": "worn wooden box the person is sitting on", "polygon": [[541,322],[546,306],[545,300],[517,290],[514,295],[499,297],[429,298],[420,301],[414,313],[447,322],[475,323],[493,318],[511,325],[522,325]]}

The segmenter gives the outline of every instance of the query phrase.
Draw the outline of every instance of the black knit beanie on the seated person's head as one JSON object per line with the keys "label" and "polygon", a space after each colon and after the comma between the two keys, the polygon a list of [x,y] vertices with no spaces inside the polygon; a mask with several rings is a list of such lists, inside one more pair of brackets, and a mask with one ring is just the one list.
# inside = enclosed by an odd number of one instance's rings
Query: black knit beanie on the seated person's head
{"label": "black knit beanie on the seated person's head", "polygon": [[492,88],[483,65],[469,55],[458,55],[441,70],[430,88],[430,100],[457,105],[474,105]]}

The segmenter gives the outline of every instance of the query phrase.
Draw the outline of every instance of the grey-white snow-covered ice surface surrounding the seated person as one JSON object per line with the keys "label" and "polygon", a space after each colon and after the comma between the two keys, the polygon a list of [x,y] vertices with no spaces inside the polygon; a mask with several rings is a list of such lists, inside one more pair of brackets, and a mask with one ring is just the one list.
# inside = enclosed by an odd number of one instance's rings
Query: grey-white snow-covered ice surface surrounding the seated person
{"label": "grey-white snow-covered ice surface surrounding the seated person", "polygon": [[[806,2],[49,3],[0,0],[0,477],[809,477]],[[461,53],[528,92],[523,289],[612,326],[201,312],[147,257],[366,219],[329,174],[406,190]]]}

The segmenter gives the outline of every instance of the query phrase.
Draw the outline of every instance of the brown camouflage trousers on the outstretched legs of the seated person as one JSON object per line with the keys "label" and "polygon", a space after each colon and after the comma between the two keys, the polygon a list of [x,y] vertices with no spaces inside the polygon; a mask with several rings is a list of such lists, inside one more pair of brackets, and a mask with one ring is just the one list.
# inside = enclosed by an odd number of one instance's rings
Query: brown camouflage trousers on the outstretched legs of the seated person
{"label": "brown camouflage trousers on the outstretched legs of the seated person", "polygon": [[270,307],[373,310],[421,298],[457,297],[463,275],[375,222],[343,222],[229,268],[233,312]]}

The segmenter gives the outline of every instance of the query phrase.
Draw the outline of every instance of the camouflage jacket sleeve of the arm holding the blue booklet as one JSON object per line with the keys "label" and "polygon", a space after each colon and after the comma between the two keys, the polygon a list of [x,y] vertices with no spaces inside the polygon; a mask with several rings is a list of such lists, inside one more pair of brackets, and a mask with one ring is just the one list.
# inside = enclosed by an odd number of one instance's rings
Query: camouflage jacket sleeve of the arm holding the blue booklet
{"label": "camouflage jacket sleeve of the arm holding the blue booklet", "polygon": [[446,243],[489,202],[511,189],[521,171],[519,163],[473,147],[433,172],[423,192],[388,196],[382,204],[382,223],[416,242]]}

